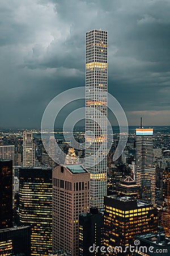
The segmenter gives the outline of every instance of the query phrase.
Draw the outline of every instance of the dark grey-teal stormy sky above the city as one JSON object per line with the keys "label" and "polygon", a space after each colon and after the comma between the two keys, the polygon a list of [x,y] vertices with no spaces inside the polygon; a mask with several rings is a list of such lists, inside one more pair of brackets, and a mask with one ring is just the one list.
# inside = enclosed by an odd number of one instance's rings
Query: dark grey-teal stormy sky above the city
{"label": "dark grey-teal stormy sky above the city", "polygon": [[170,125],[170,0],[1,0],[1,127],[40,127],[84,86],[85,34],[108,30],[108,90],[129,125]]}

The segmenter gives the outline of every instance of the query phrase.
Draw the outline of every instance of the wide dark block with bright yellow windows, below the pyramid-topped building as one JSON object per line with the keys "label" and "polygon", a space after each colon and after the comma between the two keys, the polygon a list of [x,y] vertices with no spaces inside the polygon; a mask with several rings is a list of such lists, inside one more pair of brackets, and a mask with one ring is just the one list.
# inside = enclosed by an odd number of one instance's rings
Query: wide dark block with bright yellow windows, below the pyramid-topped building
{"label": "wide dark block with bright yellow windows, below the pyramid-topped building", "polygon": [[135,234],[157,232],[157,215],[154,205],[133,197],[104,197],[104,246],[112,248],[105,255],[134,255],[125,247],[134,245]]}

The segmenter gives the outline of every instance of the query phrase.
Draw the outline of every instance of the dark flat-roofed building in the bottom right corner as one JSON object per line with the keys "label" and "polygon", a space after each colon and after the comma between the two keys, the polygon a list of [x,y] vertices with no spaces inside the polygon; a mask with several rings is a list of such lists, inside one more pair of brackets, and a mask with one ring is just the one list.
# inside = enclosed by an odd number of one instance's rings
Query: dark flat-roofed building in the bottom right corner
{"label": "dark flat-roofed building in the bottom right corner", "polygon": [[135,236],[139,241],[135,256],[167,256],[170,251],[170,239],[164,233],[147,233]]}

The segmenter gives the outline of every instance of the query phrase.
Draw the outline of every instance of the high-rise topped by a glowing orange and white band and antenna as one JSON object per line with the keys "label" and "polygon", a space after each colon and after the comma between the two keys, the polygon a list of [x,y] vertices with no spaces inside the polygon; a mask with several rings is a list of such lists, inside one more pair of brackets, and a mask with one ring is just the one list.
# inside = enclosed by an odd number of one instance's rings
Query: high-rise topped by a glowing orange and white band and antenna
{"label": "high-rise topped by a glowing orange and white band and antenna", "polygon": [[[135,181],[143,187],[143,199],[155,204],[156,170],[153,161],[153,129],[136,129]],[[148,182],[150,181],[150,193]],[[150,198],[151,195],[151,198]]]}

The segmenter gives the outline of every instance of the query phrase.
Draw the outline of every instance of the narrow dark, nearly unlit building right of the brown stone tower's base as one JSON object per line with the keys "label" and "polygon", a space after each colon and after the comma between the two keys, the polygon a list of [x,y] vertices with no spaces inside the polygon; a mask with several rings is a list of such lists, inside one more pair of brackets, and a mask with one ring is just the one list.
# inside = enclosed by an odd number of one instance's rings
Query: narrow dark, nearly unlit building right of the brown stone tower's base
{"label": "narrow dark, nearly unlit building right of the brown stone tower's base", "polygon": [[103,213],[97,208],[90,208],[89,213],[79,216],[79,256],[98,256],[90,247],[101,247],[103,238]]}

